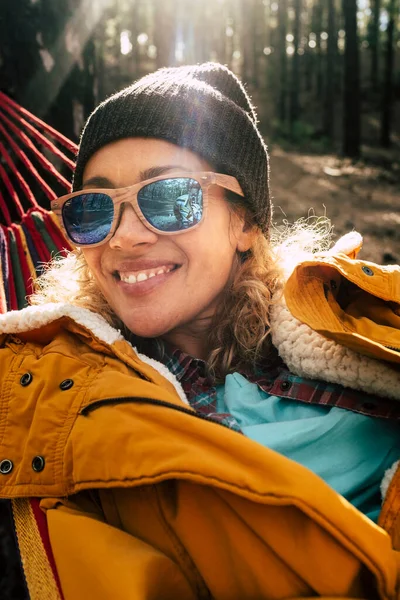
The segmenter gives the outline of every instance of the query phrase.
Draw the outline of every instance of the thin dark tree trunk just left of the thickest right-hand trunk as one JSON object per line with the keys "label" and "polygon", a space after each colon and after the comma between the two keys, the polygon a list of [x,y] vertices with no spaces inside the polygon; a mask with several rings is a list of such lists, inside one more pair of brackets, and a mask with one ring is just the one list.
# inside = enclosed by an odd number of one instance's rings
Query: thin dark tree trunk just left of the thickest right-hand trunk
{"label": "thin dark tree trunk just left of the thickest right-hand trunk", "polygon": [[327,0],[328,7],[328,47],[326,56],[326,84],[325,84],[325,109],[324,132],[333,142],[335,135],[335,72],[337,58],[337,29],[335,0]]}

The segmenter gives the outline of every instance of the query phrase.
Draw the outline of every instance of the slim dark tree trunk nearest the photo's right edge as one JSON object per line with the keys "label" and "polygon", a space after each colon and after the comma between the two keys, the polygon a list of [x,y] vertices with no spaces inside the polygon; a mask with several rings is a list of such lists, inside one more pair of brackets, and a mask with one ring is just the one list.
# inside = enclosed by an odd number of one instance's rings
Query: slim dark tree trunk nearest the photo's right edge
{"label": "slim dark tree trunk nearest the photo's right edge", "polygon": [[389,21],[386,29],[386,49],[385,49],[385,70],[383,82],[382,97],[382,123],[381,123],[381,144],[385,148],[391,145],[390,130],[392,124],[393,109],[393,62],[394,47],[393,38],[396,21],[397,0],[390,0],[388,6]]}

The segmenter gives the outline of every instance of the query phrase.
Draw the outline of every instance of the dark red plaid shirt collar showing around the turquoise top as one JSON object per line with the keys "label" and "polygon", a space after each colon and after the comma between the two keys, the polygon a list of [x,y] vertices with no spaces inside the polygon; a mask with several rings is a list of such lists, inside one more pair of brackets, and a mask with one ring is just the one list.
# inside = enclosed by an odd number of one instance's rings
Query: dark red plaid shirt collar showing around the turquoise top
{"label": "dark red plaid shirt collar showing around the turquoise top", "polygon": [[[196,412],[240,431],[238,422],[231,414],[217,413],[216,388],[206,376],[204,361],[180,350],[174,350],[165,360],[165,365],[181,383],[190,405]],[[337,406],[369,417],[400,421],[400,402],[396,400],[378,398],[339,384],[297,377],[284,365],[274,367],[272,372],[261,375],[241,374],[269,396],[290,398],[306,404]]]}

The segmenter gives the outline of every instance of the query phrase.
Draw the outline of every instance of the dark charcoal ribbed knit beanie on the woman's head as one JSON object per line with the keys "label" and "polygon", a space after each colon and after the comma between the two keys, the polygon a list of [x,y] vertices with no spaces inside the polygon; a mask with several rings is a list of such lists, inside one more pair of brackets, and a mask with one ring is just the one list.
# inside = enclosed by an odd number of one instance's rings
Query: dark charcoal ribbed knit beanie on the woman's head
{"label": "dark charcoal ribbed knit beanie on the woman's head", "polygon": [[251,100],[227,67],[159,69],[107,98],[82,132],[73,190],[81,188],[85,165],[97,150],[127,137],[167,140],[195,152],[216,172],[236,177],[254,222],[268,234],[267,148]]}

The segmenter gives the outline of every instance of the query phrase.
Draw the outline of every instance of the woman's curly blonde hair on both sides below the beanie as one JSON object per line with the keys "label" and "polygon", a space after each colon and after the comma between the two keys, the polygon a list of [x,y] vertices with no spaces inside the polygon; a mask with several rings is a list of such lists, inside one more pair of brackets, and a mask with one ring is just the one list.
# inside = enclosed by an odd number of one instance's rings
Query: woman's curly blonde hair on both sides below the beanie
{"label": "woman's curly blonde hair on both sides below the beanie", "polygon": [[[327,249],[331,227],[326,218],[309,217],[294,225],[273,229],[270,240],[259,231],[252,248],[238,254],[232,280],[210,327],[207,366],[216,380],[237,369],[253,371],[273,355],[269,313],[295,262],[309,253]],[[66,302],[102,315],[130,339],[123,322],[112,311],[77,249],[55,258],[36,281],[31,304]],[[132,336],[141,351],[149,341]],[[141,343],[142,342],[142,343]],[[153,351],[160,355],[162,344]],[[160,358],[160,356],[157,356]]]}

